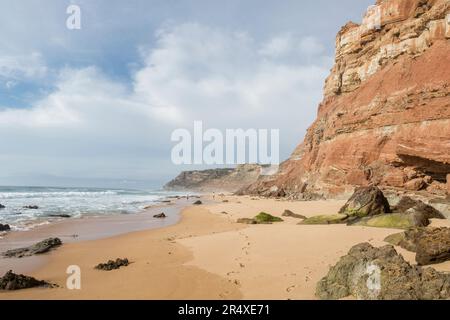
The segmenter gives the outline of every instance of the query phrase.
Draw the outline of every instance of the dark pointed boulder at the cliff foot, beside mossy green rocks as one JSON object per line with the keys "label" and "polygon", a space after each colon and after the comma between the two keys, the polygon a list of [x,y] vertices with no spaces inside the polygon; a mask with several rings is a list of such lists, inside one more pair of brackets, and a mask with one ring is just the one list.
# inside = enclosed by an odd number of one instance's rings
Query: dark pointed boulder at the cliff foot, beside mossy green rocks
{"label": "dark pointed boulder at the cliff foot, beside mossy green rocks", "polygon": [[363,218],[390,213],[389,202],[377,187],[360,187],[339,210],[340,214],[352,218]]}

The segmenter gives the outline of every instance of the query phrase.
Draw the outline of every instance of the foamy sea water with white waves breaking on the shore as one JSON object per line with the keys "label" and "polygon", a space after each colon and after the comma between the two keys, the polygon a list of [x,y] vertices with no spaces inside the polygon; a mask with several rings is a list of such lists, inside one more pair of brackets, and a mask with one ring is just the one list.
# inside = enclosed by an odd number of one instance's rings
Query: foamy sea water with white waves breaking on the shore
{"label": "foamy sea water with white waves breaking on the shore", "polygon": [[[70,217],[133,214],[144,207],[157,204],[174,192],[152,190],[55,188],[55,187],[0,187],[0,223],[12,230],[29,230],[58,220],[56,216]],[[38,206],[38,209],[27,209]]]}

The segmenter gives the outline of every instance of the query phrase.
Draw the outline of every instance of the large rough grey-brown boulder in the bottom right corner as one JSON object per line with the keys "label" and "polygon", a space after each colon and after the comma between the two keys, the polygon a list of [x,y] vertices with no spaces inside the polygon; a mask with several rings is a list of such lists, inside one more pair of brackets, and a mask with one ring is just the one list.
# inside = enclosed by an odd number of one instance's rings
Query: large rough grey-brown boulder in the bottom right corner
{"label": "large rough grey-brown boulder in the bottom right corner", "polygon": [[393,246],[362,243],[331,267],[316,295],[334,300],[435,300],[450,298],[450,274],[411,266]]}

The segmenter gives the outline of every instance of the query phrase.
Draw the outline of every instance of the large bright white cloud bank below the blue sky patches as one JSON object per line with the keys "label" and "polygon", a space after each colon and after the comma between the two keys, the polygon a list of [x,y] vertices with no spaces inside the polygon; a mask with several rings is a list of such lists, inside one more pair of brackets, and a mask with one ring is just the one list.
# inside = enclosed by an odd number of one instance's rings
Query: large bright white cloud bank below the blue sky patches
{"label": "large bright white cloud bank below the blue sky patches", "polygon": [[[330,67],[317,40],[280,35],[257,41],[243,32],[200,24],[166,27],[156,37],[131,85],[95,67],[64,69],[56,89],[30,108],[0,110],[0,135],[10,137],[0,141],[0,149],[14,158],[52,159],[34,171],[54,173],[60,166],[66,175],[94,170],[133,176],[164,161],[170,167],[170,132],[190,128],[194,120],[220,129],[280,128],[284,156],[300,141]],[[309,56],[307,63],[302,54]],[[42,57],[34,60],[1,72],[42,76]],[[1,61],[0,66],[11,66]],[[65,158],[55,165],[61,152]],[[70,161],[68,154],[73,155]],[[80,157],[103,161],[77,161]],[[0,159],[0,165],[21,170],[8,158]]]}

